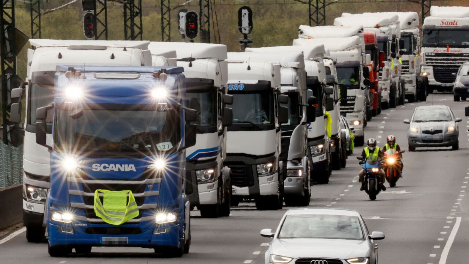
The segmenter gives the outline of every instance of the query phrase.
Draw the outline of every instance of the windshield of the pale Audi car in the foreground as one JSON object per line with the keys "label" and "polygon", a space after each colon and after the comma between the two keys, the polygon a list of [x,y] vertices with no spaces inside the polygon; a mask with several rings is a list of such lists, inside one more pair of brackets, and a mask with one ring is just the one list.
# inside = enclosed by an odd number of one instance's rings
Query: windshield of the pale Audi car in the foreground
{"label": "windshield of the pale Audi car in the foreground", "polygon": [[278,238],[363,240],[358,217],[340,215],[287,215]]}

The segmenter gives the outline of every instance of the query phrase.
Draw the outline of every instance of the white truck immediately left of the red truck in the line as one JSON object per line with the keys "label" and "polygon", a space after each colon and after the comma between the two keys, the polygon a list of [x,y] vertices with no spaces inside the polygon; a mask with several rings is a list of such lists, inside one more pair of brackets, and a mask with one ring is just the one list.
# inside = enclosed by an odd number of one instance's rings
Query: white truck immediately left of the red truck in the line
{"label": "white truck immediately left of the red truck in the line", "polygon": [[[317,38],[295,39],[293,45],[324,45],[336,61],[337,77],[342,88],[340,89],[340,112],[347,116],[354,127],[355,142],[357,146],[364,143],[363,128],[366,122],[366,97],[368,95],[365,81],[362,39],[358,36],[348,38]],[[366,75],[366,74],[365,74]],[[347,86],[347,88],[345,88]]]}

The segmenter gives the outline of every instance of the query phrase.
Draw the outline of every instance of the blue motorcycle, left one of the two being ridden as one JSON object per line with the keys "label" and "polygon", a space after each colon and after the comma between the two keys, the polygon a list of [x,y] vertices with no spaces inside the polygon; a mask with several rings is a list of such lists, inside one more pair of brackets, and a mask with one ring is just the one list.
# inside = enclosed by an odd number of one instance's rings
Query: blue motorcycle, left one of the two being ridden
{"label": "blue motorcycle, left one of the two being ridden", "polygon": [[371,159],[362,159],[362,157],[356,157],[360,160],[360,165],[362,165],[363,170],[365,170],[365,181],[368,183],[365,189],[365,192],[370,197],[371,201],[376,200],[376,195],[379,194],[381,188],[381,177],[379,176],[379,169],[382,167],[382,160],[371,160]]}

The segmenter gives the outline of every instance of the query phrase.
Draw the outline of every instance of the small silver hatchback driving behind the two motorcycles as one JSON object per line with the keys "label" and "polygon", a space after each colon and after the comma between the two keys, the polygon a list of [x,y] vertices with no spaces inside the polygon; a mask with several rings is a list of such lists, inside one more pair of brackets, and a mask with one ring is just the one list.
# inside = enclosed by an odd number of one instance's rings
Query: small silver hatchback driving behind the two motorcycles
{"label": "small silver hatchback driving behind the two motorcycles", "polygon": [[412,119],[404,120],[410,124],[407,133],[409,151],[419,147],[459,148],[459,126],[461,118],[455,118],[453,111],[446,105],[419,106],[414,110]]}

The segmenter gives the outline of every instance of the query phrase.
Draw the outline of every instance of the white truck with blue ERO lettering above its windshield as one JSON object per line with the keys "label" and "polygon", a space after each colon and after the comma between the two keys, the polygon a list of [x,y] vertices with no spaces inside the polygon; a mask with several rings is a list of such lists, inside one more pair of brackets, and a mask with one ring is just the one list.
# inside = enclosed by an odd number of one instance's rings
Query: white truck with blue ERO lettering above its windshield
{"label": "white truck with blue ERO lettering above its windshield", "polygon": [[228,53],[228,94],[234,100],[225,164],[231,169],[233,205],[254,198],[259,210],[283,206],[280,129],[288,122],[288,109],[281,103],[288,96],[280,94],[280,68],[250,62],[245,53]]}

